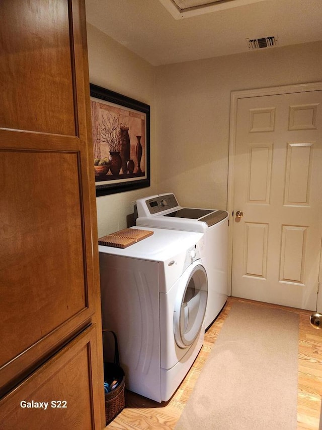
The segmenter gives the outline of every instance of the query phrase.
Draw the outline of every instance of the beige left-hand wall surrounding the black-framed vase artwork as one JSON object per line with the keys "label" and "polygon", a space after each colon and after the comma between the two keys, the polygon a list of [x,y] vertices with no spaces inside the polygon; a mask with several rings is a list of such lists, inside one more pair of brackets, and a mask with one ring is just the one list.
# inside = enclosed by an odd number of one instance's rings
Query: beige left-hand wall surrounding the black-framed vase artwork
{"label": "beige left-hand wall surrounding the black-framed vase artwork", "polygon": [[96,199],[99,237],[126,227],[136,199],[156,192],[155,186],[155,108],[154,68],[87,24],[90,82],[150,105],[151,187]]}

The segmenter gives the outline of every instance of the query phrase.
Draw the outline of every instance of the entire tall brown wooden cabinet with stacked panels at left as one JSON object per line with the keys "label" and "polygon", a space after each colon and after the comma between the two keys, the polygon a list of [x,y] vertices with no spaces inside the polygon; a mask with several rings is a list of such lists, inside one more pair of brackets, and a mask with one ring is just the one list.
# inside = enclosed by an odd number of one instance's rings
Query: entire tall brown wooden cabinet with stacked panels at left
{"label": "entire tall brown wooden cabinet with stacked panels at left", "polygon": [[102,428],[85,2],[2,0],[0,16],[0,416],[14,401],[19,428],[51,428],[57,410],[18,400],[52,395],[74,405],[53,428]]}

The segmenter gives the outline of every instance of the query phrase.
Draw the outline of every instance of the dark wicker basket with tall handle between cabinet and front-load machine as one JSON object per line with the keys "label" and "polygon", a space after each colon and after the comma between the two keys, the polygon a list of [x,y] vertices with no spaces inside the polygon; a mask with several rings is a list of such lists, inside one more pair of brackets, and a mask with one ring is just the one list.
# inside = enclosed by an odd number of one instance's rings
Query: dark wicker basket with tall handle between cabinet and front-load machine
{"label": "dark wicker basket with tall handle between cabinet and front-load machine", "polygon": [[103,330],[103,334],[109,332],[113,334],[115,349],[114,362],[104,362],[104,380],[117,379],[119,384],[109,393],[105,393],[105,419],[106,425],[109,424],[125,407],[125,375],[120,367],[120,358],[116,334],[111,330]]}

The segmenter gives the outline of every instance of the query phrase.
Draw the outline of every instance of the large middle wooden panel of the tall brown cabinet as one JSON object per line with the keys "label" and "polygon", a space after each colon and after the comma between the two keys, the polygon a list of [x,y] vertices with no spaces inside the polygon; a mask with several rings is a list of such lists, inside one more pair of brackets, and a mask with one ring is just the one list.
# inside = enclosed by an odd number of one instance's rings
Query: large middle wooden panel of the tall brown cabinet
{"label": "large middle wooden panel of the tall brown cabinet", "polygon": [[0,148],[0,338],[11,339],[0,350],[1,386],[19,376],[14,359],[25,352],[18,367],[32,367],[50,349],[49,334],[57,344],[64,324],[77,327],[94,312],[80,176],[79,151]]}

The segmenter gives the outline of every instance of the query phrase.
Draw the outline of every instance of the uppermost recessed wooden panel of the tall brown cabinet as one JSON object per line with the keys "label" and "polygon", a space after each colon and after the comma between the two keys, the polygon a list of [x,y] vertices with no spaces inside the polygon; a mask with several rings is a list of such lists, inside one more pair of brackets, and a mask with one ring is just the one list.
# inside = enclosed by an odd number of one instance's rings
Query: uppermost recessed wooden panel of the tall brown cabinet
{"label": "uppermost recessed wooden panel of the tall brown cabinet", "polygon": [[0,2],[0,127],[75,134],[68,3]]}

